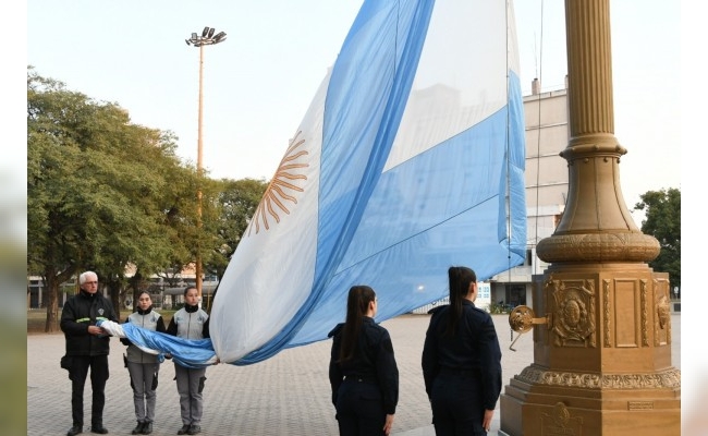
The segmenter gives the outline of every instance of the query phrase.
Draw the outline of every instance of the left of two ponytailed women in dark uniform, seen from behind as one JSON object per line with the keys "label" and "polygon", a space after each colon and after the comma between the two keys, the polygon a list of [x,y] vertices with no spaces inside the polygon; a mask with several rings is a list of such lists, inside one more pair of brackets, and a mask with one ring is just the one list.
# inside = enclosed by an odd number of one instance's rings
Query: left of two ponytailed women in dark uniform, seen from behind
{"label": "left of two ponytailed women in dark uniform, seen from behind", "polygon": [[374,322],[378,307],[368,286],[354,286],[346,320],[329,337],[329,382],[342,436],[389,435],[399,402],[399,368],[389,331]]}

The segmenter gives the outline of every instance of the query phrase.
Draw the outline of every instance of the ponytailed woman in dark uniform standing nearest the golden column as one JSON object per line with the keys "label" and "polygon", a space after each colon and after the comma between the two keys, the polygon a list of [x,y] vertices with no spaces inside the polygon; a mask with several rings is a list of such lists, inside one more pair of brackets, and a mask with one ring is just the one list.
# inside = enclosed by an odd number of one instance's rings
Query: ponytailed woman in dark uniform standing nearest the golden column
{"label": "ponytailed woman in dark uniform standing nearest the golden column", "polygon": [[477,276],[448,269],[450,304],[429,313],[423,377],[437,436],[486,435],[501,392],[501,349],[491,316],[475,307]]}

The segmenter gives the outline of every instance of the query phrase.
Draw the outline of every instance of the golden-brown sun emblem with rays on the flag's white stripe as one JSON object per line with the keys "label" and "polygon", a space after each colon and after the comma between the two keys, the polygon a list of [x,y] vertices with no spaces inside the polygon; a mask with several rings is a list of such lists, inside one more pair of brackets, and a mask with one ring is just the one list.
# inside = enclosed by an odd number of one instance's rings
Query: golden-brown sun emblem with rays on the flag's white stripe
{"label": "golden-brown sun emblem with rays on the flag's white stripe", "polygon": [[297,204],[297,198],[291,195],[291,193],[293,191],[304,192],[301,186],[294,184],[298,180],[307,180],[307,175],[298,173],[298,170],[309,167],[308,164],[297,162],[297,159],[308,155],[307,150],[302,147],[305,144],[305,140],[300,138],[302,133],[302,131],[298,131],[295,137],[290,141],[285,156],[280,161],[276,174],[268,184],[268,189],[266,189],[266,193],[260,204],[258,204],[258,208],[256,208],[253,221],[248,227],[249,235],[254,226],[256,233],[258,233],[261,225],[265,230],[268,230],[270,229],[271,220],[280,222],[281,213],[290,215],[286,202]]}

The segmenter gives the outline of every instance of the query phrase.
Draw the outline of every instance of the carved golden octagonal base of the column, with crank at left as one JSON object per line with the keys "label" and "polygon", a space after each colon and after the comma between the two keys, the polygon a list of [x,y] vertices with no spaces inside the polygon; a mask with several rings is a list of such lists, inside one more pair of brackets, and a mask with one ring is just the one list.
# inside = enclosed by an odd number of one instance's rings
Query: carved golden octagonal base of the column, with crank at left
{"label": "carved golden octagonal base of the column, with crank at left", "polygon": [[681,372],[671,366],[667,274],[551,267],[533,301],[536,311],[520,306],[509,319],[517,332],[533,329],[534,363],[504,388],[500,435],[675,434]]}

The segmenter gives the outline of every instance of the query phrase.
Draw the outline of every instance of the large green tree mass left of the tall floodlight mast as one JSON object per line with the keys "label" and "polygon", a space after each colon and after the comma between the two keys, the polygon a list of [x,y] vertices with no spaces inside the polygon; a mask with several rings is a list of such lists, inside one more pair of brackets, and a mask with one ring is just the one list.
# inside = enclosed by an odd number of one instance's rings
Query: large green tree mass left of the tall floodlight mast
{"label": "large green tree mass left of the tall floodlight mast", "polygon": [[99,274],[118,308],[126,267],[150,275],[184,245],[171,215],[195,221],[174,210],[197,182],[175,148],[120,106],[28,69],[27,267],[48,289],[46,331],[57,326],[60,284],[81,270]]}

